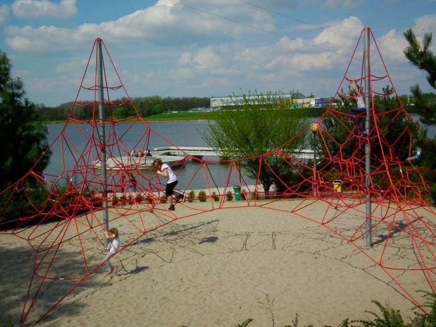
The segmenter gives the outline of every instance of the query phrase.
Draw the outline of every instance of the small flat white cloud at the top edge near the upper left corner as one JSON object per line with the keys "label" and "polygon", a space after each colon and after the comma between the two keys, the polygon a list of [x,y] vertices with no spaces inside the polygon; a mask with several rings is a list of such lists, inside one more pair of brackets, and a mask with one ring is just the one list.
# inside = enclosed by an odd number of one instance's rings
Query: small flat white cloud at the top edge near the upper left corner
{"label": "small flat white cloud at the top edge near the upper left corner", "polygon": [[48,0],[16,0],[12,4],[14,16],[18,18],[69,18],[77,14],[76,0],[62,0],[54,4]]}

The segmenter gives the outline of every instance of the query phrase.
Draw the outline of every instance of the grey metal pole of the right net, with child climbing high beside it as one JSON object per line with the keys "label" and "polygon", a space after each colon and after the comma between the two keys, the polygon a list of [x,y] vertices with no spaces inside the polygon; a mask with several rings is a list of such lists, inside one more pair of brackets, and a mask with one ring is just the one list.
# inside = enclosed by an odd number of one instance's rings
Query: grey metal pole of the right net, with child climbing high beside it
{"label": "grey metal pole of the right net, with child climbing high beside it", "polygon": [[370,65],[369,65],[369,28],[365,27],[365,47],[364,47],[364,62],[363,69],[365,72],[365,106],[366,106],[366,120],[365,120],[365,131],[367,134],[367,140],[365,143],[365,182],[366,182],[366,247],[373,247],[373,237],[372,237],[372,206],[371,206],[371,148],[369,144],[369,130],[371,129],[371,94],[372,90],[370,84]]}

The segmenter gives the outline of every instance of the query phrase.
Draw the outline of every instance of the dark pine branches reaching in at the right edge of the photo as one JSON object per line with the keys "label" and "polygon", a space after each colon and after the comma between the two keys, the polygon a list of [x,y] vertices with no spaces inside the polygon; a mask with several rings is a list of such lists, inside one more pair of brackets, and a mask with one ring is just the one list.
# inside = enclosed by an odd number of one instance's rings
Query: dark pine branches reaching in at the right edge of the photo
{"label": "dark pine branches reaching in at the right edge of the photo", "polygon": [[[436,56],[430,50],[432,33],[424,34],[422,46],[411,29],[404,32],[409,46],[404,54],[413,66],[427,73],[427,82],[436,90]],[[436,97],[423,93],[420,86],[411,86],[410,92],[415,98],[415,107],[420,114],[420,121],[425,125],[436,124]],[[436,202],[436,138],[429,139],[427,131],[417,133],[418,146],[422,149],[419,164],[424,167],[423,176],[430,185],[433,202]]]}

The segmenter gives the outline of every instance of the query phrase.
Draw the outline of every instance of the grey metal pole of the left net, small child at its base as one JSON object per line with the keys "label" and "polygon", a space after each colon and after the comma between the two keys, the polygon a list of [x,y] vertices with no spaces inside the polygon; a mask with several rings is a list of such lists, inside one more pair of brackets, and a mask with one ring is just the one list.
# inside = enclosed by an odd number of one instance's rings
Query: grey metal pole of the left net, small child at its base
{"label": "grey metal pole of the left net, small child at its base", "polygon": [[[98,118],[100,128],[100,148],[101,148],[101,180],[103,181],[103,227],[109,229],[109,218],[107,215],[107,172],[106,172],[106,128],[104,125],[103,112],[103,54],[101,52],[101,39],[97,39],[97,88],[98,88]],[[104,246],[108,244],[104,238]]]}

